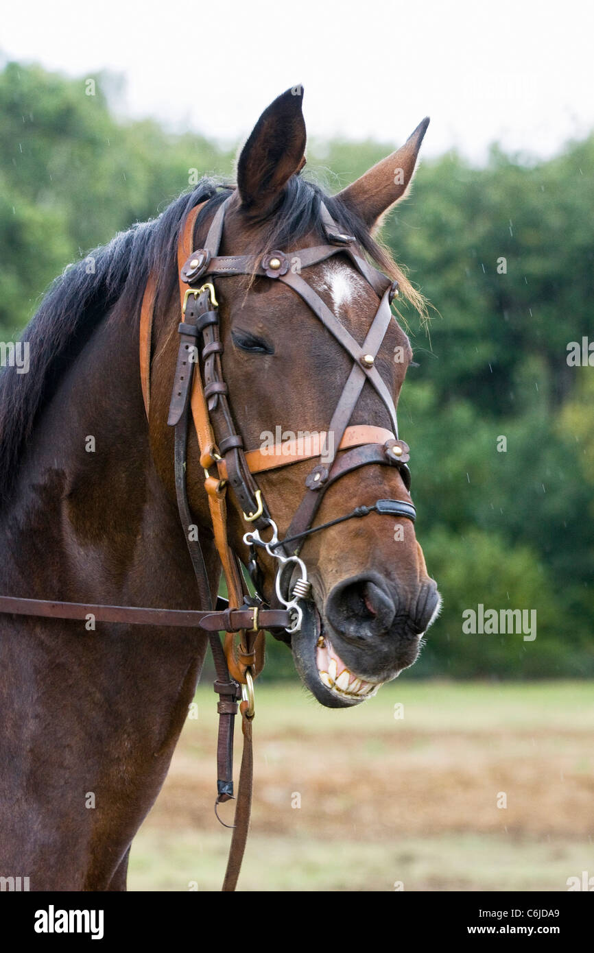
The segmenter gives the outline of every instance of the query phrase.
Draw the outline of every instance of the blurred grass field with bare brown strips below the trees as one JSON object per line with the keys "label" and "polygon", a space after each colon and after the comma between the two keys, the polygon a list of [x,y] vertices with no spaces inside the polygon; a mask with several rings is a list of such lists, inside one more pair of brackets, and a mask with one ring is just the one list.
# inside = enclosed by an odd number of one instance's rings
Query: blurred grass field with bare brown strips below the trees
{"label": "blurred grass field with bare brown strips below the trees", "polygon": [[[196,701],[133,841],[131,890],[220,889],[210,685]],[[592,682],[399,681],[338,711],[262,685],[254,732],[242,890],[555,891],[594,875]]]}

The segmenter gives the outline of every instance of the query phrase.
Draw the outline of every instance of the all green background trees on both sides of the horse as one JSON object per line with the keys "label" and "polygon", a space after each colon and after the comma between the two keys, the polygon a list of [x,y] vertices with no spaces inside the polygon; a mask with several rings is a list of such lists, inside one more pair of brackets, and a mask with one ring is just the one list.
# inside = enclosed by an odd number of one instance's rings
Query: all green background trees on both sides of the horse
{"label": "all green background trees on both sides of the horse", "polygon": [[[113,77],[0,72],[0,336],[18,332],[51,278],[233,154],[152,121],[121,122]],[[106,93],[107,91],[107,93]],[[390,151],[310,145],[306,174],[338,191]],[[594,673],[594,370],[569,341],[594,338],[594,136],[527,165],[494,147],[424,162],[383,230],[434,306],[404,312],[415,360],[399,403],[412,448],[418,533],[444,604],[417,676]],[[506,267],[502,268],[502,259]],[[507,441],[501,450],[501,437]],[[498,445],[500,449],[498,449]],[[461,613],[536,609],[538,636],[463,636]],[[293,672],[270,640],[268,676]]]}

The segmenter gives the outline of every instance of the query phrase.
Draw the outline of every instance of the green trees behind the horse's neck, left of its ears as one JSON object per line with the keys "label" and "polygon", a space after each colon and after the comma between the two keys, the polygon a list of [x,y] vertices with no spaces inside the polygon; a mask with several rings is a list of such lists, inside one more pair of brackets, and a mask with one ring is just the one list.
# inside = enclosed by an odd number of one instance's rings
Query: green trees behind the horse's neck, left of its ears
{"label": "green trees behind the horse's neck, left of its ears", "polygon": [[16,332],[66,265],[144,221],[192,170],[229,174],[230,152],[154,122],[122,124],[103,93],[110,77],[65,79],[10,63],[0,72],[0,334]]}

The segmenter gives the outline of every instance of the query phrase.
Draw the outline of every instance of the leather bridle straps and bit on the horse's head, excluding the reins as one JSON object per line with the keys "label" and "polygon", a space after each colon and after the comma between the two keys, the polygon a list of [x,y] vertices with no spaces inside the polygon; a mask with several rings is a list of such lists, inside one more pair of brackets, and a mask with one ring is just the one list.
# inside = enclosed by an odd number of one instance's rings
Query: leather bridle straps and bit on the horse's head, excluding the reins
{"label": "leather bridle straps and bit on the horse's head, excluding the reins", "polygon": [[[205,470],[205,488],[209,497],[224,492],[229,484],[235,492],[241,505],[243,517],[254,529],[246,533],[244,542],[250,547],[250,565],[252,581],[256,588],[256,595],[260,602],[263,596],[258,584],[257,548],[263,548],[283,564],[295,563],[302,570],[302,576],[297,580],[298,597],[290,600],[282,598],[278,592],[279,601],[292,613],[292,623],[287,627],[289,634],[297,632],[301,622],[301,611],[298,607],[298,598],[309,594],[307,574],[298,554],[306,537],[330,525],[350,519],[363,517],[371,512],[407,517],[414,520],[415,507],[405,500],[378,500],[370,507],[357,507],[352,512],[314,526],[317,510],[325,491],[344,476],[359,467],[378,463],[399,468],[404,485],[410,488],[410,471],[407,466],[409,447],[403,440],[399,440],[396,407],[389,389],[379,376],[375,360],[381,342],[392,320],[390,304],[398,294],[398,282],[393,282],[386,275],[380,273],[365,261],[354,249],[355,238],[340,233],[338,225],[321,203],[320,212],[322,224],[326,233],[327,243],[314,248],[305,248],[287,254],[272,251],[261,257],[254,255],[220,255],[218,253],[225,213],[233,198],[230,195],[218,207],[215,217],[208,231],[204,247],[192,251],[182,262],[181,258],[186,251],[186,240],[194,237],[195,218],[200,211],[196,207],[188,216],[185,235],[182,235],[178,250],[180,265],[180,295],[182,300],[182,322],[179,324],[180,344],[175,370],[174,394],[172,396],[169,424],[176,426],[183,415],[183,409],[188,403],[188,395],[192,384],[192,370],[187,363],[190,349],[197,349],[197,341],[201,338],[203,348],[201,362],[204,375],[203,401],[193,401],[192,411],[195,418],[196,432],[200,445],[200,465]],[[190,245],[194,242],[190,241]],[[355,338],[340,324],[338,318],[325,304],[319,294],[301,276],[303,269],[325,261],[337,253],[346,253],[359,274],[369,282],[379,295],[379,308],[372,321],[371,327],[359,345]],[[295,441],[288,441],[274,448],[267,448],[266,453],[261,449],[244,450],[243,439],[236,431],[236,425],[229,405],[229,388],[224,380],[221,365],[223,345],[220,340],[220,326],[218,306],[215,297],[215,279],[232,275],[261,275],[277,280],[289,286],[306,302],[310,310],[317,316],[324,327],[338,340],[338,343],[353,359],[353,367],[346,384],[338,399],[335,412],[330,421],[327,435],[332,435],[332,450],[324,455],[323,463],[316,463],[305,479],[305,493],[297,511],[291,521],[284,539],[278,539],[277,524],[271,517],[262,491],[258,488],[255,475],[283,467],[304,459],[319,456],[317,452],[299,452]],[[204,282],[208,277],[211,280]],[[146,343],[146,342],[145,342]],[[198,363],[195,355],[195,363]],[[144,366],[147,366],[146,352]],[[190,375],[188,374],[190,370]],[[145,371],[145,405],[149,407],[148,372]],[[390,417],[394,433],[384,428],[371,426],[350,427],[349,422],[358,402],[365,381],[374,387],[384,403]],[[206,406],[205,406],[206,405]],[[203,412],[203,413],[200,413]],[[214,428],[210,416],[216,413],[218,422],[218,442],[215,443]],[[207,432],[204,428],[204,417],[207,418]],[[323,436],[327,436],[323,435]],[[200,437],[203,437],[201,439]],[[211,469],[215,468],[217,476],[211,476]],[[218,477],[218,478],[217,478]],[[266,540],[261,537],[264,530],[270,530],[272,536]],[[223,541],[217,547],[223,547]],[[221,558],[223,567],[226,559]],[[277,575],[277,582],[278,577]],[[227,580],[229,583],[229,580]],[[236,663],[231,660],[234,678],[241,680],[243,671],[238,671]]]}

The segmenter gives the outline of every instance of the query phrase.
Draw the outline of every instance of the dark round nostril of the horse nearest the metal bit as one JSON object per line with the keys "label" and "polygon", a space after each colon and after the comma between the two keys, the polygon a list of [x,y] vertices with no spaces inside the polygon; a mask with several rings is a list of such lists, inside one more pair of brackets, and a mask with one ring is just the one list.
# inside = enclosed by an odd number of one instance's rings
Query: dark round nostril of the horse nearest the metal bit
{"label": "dark round nostril of the horse nearest the metal bit", "polygon": [[326,600],[326,615],[333,628],[358,642],[387,633],[396,609],[379,576],[357,576],[339,582]]}

